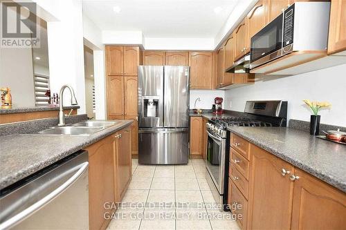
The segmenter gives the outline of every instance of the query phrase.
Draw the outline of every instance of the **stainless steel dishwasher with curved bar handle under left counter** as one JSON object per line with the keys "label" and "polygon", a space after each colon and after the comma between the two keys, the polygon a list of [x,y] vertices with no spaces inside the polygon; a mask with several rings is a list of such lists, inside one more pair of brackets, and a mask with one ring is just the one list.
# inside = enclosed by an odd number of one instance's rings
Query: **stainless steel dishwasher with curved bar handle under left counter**
{"label": "stainless steel dishwasher with curved bar handle under left counter", "polygon": [[1,191],[0,229],[89,229],[88,152]]}

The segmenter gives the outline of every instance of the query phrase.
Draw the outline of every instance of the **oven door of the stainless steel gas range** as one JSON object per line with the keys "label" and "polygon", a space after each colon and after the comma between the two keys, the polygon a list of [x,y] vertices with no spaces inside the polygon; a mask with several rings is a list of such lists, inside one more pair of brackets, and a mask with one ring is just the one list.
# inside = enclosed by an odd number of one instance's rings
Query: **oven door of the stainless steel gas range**
{"label": "oven door of the stainless steel gas range", "polygon": [[226,140],[208,132],[206,166],[220,195],[224,194]]}

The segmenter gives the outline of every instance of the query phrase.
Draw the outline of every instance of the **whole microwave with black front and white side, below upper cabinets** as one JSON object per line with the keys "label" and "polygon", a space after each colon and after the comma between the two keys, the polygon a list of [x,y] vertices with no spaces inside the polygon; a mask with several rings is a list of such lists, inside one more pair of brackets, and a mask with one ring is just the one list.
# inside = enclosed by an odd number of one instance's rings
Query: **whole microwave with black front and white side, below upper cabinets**
{"label": "whole microwave with black front and white side, below upper cabinets", "polygon": [[326,50],[329,2],[297,2],[251,37],[250,68],[291,52]]}

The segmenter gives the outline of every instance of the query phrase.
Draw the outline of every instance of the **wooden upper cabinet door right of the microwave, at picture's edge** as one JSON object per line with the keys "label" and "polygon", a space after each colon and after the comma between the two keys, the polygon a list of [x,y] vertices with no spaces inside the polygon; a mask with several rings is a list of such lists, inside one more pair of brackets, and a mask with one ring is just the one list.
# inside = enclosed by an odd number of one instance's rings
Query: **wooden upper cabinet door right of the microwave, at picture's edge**
{"label": "wooden upper cabinet door right of the microwave, at picture's edge", "polygon": [[346,1],[331,0],[328,54],[344,50],[346,50]]}

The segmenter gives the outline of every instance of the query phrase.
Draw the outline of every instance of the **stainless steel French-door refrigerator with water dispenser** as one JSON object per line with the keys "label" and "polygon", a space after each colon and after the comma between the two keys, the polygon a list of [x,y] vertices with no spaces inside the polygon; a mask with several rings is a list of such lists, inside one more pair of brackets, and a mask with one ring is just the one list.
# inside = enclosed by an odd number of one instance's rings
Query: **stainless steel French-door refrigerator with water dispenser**
{"label": "stainless steel French-door refrigerator with water dispenser", "polygon": [[187,164],[188,66],[138,67],[138,162]]}

